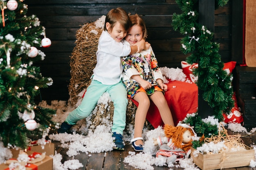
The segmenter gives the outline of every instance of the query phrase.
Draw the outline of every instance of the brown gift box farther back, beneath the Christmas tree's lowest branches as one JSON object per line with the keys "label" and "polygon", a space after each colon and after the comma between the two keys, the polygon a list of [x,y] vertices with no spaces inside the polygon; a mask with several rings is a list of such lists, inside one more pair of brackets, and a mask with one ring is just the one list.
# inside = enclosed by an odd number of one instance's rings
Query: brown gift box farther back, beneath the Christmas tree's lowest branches
{"label": "brown gift box farther back, beneath the Christmas tree's lowest branches", "polygon": [[[48,142],[47,144],[45,144],[45,146],[42,146],[40,144],[37,143],[37,141],[32,141],[28,146],[27,146],[27,150],[31,150],[34,152],[39,152],[39,153],[44,153],[47,156],[50,155],[54,155],[55,154],[55,144],[53,144],[52,142]],[[17,155],[19,154],[20,150],[16,150],[16,149],[11,149],[12,155]]]}

